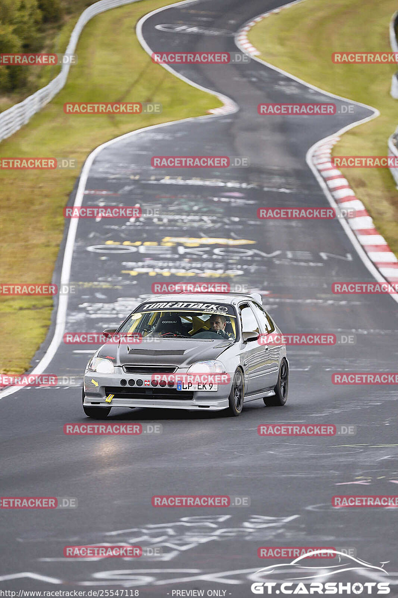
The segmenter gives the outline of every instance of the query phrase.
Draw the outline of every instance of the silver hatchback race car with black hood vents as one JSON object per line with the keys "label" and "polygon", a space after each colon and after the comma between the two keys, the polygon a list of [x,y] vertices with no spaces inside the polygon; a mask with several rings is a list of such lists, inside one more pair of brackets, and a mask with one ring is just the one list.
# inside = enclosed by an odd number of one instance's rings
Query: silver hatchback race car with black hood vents
{"label": "silver hatchback race car with black hood vents", "polygon": [[[104,419],[112,407],[220,411],[245,402],[285,405],[289,364],[282,333],[261,295],[181,292],[144,301],[88,362],[83,408]],[[267,338],[279,338],[267,344]]]}

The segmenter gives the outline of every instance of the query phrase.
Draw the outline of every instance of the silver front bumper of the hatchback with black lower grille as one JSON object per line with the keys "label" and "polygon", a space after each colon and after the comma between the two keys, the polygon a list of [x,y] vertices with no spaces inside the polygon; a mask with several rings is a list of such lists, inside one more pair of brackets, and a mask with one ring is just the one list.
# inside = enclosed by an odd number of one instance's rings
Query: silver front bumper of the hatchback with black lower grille
{"label": "silver front bumper of the hatchback with black lower grille", "polygon": [[[134,386],[130,386],[134,380]],[[141,380],[141,386],[137,381]],[[122,385],[121,381],[127,381]],[[162,409],[187,409],[220,411],[229,406],[232,383],[218,384],[217,390],[188,392],[177,390],[177,384],[161,388],[152,386],[150,375],[145,374],[97,374],[86,372],[84,376],[85,407],[159,407]],[[106,398],[112,396],[110,402]]]}

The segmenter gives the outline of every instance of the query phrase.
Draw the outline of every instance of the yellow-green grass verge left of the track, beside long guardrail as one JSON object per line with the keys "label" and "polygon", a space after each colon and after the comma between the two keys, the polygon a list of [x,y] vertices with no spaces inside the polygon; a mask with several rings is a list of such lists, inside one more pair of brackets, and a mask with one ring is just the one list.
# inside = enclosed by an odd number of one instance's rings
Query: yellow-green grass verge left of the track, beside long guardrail
{"label": "yellow-green grass verge left of the track, beside long guardrail", "polygon": [[[1,157],[76,158],[67,170],[2,170],[2,283],[48,283],[63,236],[66,205],[85,158],[103,142],[156,123],[195,117],[221,105],[152,63],[135,36],[144,14],[169,0],[144,0],[94,17],[79,39],[66,86],[23,129],[0,144]],[[72,27],[68,25],[69,32]],[[67,39],[65,32],[60,33]],[[64,102],[160,102],[158,115],[67,115]],[[45,338],[53,300],[0,298],[0,371],[29,368]]]}

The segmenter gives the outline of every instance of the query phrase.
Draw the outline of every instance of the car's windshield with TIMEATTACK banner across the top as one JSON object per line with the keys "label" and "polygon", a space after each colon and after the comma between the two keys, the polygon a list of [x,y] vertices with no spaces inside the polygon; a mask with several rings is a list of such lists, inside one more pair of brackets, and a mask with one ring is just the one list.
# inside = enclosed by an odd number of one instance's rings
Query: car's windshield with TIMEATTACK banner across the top
{"label": "car's windshield with TIMEATTACK banner across the top", "polygon": [[140,306],[139,311],[132,313],[118,330],[118,335],[135,334],[148,340],[162,337],[230,341],[235,341],[239,335],[232,306],[186,301],[152,302]]}

